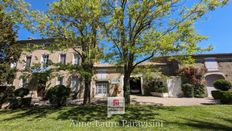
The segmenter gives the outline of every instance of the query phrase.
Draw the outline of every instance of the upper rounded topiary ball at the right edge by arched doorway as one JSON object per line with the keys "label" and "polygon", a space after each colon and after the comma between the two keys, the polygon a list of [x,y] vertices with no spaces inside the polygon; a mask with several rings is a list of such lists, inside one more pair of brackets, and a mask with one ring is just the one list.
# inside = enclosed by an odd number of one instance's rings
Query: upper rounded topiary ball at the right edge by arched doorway
{"label": "upper rounded topiary ball at the right edge by arched doorway", "polygon": [[214,87],[222,91],[228,91],[231,89],[231,83],[227,80],[217,80],[214,82]]}

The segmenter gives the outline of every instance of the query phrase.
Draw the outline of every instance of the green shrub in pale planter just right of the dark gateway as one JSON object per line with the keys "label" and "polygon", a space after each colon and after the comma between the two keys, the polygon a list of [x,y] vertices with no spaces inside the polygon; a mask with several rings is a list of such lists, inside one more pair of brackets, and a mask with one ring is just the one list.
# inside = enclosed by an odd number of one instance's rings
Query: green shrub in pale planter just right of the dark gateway
{"label": "green shrub in pale planter just right of the dark gateway", "polygon": [[168,88],[162,82],[152,86],[151,95],[158,97],[168,97]]}

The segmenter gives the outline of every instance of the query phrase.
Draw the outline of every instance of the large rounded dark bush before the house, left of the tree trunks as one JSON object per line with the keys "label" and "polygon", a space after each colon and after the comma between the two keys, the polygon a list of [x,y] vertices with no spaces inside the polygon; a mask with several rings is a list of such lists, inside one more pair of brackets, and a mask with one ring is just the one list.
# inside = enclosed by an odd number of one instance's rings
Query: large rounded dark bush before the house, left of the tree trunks
{"label": "large rounded dark bush before the house, left of the tree trunks", "polygon": [[45,97],[53,106],[62,106],[66,104],[66,99],[70,94],[70,89],[64,85],[57,85],[49,88],[46,92]]}

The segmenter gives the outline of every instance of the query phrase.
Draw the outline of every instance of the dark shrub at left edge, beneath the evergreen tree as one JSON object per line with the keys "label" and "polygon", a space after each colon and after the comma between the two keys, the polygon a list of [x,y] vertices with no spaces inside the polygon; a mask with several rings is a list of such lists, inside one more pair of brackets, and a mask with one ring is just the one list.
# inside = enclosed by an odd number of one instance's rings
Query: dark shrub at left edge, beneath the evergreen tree
{"label": "dark shrub at left edge, beneath the evergreen tree", "polygon": [[0,86],[0,108],[14,96],[14,86]]}

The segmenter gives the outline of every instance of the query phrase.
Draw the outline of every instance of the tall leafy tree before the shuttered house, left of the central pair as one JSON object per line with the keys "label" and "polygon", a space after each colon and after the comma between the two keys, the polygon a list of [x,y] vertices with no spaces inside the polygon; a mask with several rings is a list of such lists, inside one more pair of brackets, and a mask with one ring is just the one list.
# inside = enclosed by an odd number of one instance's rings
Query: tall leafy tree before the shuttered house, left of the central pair
{"label": "tall leafy tree before the shuttered house, left of the central pair", "polygon": [[[52,3],[46,14],[38,12],[36,16],[41,34],[56,41],[56,44],[49,47],[51,50],[72,48],[81,56],[81,66],[66,65],[62,66],[62,69],[76,71],[83,76],[83,104],[90,102],[93,64],[101,54],[97,46],[100,17],[99,0],[60,0]],[[81,50],[77,50],[77,46],[80,46]]]}

